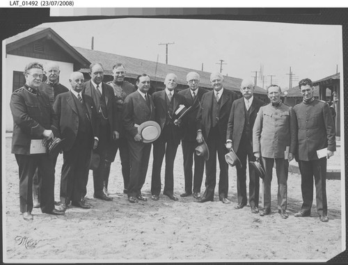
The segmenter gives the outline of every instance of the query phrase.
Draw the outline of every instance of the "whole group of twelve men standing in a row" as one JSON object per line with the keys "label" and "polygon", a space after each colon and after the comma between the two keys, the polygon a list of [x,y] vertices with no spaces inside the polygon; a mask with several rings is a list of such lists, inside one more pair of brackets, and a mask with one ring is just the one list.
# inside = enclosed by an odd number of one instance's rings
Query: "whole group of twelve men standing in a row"
{"label": "whole group of twelve men standing in a row", "polygon": [[[264,216],[271,212],[271,179],[274,161],[278,178],[278,211],[287,218],[287,169],[289,161],[299,161],[303,205],[298,216],[309,216],[313,202],[313,176],[317,192],[317,212],[322,221],[327,218],[326,159],[335,151],[335,128],[325,102],[313,97],[310,79],[299,82],[303,102],[294,108],[284,104],[279,86],[267,88],[269,104],[254,97],[253,82],[242,81],[240,92],[223,86],[223,76],[210,76],[212,90],[199,88],[200,76],[187,74],[189,88],[177,93],[177,77],[170,73],[164,80],[165,89],[149,95],[150,77],[141,74],[136,87],[125,81],[125,67],[113,66],[113,81],[104,83],[104,68],[100,63],[90,65],[90,81],[84,74],[70,75],[70,91],[58,81],[59,67],[49,63],[45,67],[47,81],[42,83],[44,69],[40,63],[29,63],[24,70],[26,83],[15,90],[10,108],[14,130],[12,152],[19,166],[20,211],[24,220],[33,220],[31,211],[33,191],[40,196],[38,206],[47,214],[64,214],[71,203],[89,209],[84,199],[88,170],[93,166],[94,198],[110,201],[109,175],[111,163],[120,150],[124,189],[131,203],[147,201],[141,189],[148,172],[151,147],[153,163],[151,198],[159,200],[161,166],[165,159],[163,194],[173,201],[174,161],[177,147],[182,143],[184,193],[197,202],[214,200],[216,186],[216,155],[219,159],[219,200],[228,200],[228,163],[226,154],[234,150],[237,164],[237,205],[247,204],[246,168],[258,161],[264,167],[263,202],[259,210],[260,177],[251,166],[249,172],[249,205],[253,214]],[[51,74],[49,74],[51,73]],[[189,111],[183,118],[175,118],[179,107]],[[153,143],[139,132],[144,122],[157,122],[160,134]],[[56,138],[63,139],[63,168],[61,170],[61,204],[54,206],[54,172],[57,155],[46,152],[31,154],[32,140],[42,144]],[[198,155],[198,145],[207,145],[207,161]],[[324,150],[320,155],[317,151]],[[194,161],[194,166],[193,166]],[[206,172],[205,192],[200,194],[203,172]],[[194,170],[193,170],[194,168]],[[33,179],[37,172],[38,188]],[[37,192],[38,191],[38,192]]]}

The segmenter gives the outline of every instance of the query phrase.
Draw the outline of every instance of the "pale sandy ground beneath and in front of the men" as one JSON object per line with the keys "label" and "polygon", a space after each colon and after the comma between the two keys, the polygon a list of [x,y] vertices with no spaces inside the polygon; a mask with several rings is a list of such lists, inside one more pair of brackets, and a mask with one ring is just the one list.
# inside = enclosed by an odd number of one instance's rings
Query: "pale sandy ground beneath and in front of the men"
{"label": "pale sandy ground beneath and in front of the men", "polygon": [[[249,207],[235,210],[237,186],[235,168],[230,168],[228,198],[231,204],[199,204],[193,198],[180,198],[184,190],[182,150],[175,160],[175,194],[178,202],[160,195],[160,200],[130,204],[122,194],[118,156],[112,165],[109,192],[112,202],[93,198],[93,177],[88,181],[91,209],[69,207],[65,216],[42,214],[33,210],[33,222],[19,213],[17,163],[10,154],[6,138],[6,175],[3,194],[3,253],[10,262],[142,262],[232,261],[232,260],[328,260],[342,252],[341,182],[326,182],[329,223],[319,221],[313,205],[312,217],[295,218],[301,208],[301,177],[290,173],[287,210],[280,218],[276,208],[276,175],[272,182],[272,208],[269,216],[251,214]],[[59,200],[62,156],[56,167],[55,198]],[[143,195],[150,197],[152,157]],[[164,170],[162,169],[162,181]],[[204,191],[204,184],[202,187]],[[24,240],[26,238],[26,241]],[[5,257],[5,256],[4,256]]]}

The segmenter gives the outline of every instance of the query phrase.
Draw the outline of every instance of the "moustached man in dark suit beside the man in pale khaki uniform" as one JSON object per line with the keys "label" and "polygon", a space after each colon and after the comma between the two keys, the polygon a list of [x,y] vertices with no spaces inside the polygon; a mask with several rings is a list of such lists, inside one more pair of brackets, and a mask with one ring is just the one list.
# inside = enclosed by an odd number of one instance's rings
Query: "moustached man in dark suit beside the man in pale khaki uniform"
{"label": "moustached man in dark suit beside the man in pale khaki uniform", "polygon": [[[248,201],[246,198],[246,157],[248,161],[255,161],[253,154],[253,126],[260,106],[264,103],[253,96],[255,86],[252,81],[243,80],[240,86],[242,98],[232,104],[226,147],[233,148],[242,167],[237,167],[237,196],[238,204],[235,209],[242,209]],[[255,170],[249,168],[249,205],[253,214],[258,214],[260,180]]]}

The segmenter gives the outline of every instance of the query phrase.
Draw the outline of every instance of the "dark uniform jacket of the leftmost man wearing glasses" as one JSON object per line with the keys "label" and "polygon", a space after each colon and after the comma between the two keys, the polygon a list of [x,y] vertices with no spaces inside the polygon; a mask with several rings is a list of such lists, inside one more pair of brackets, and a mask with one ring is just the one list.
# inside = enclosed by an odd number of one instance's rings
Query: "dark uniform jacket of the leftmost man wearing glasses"
{"label": "dark uniform jacket of the leftmost man wearing glasses", "polygon": [[31,140],[42,139],[45,129],[51,129],[55,137],[60,136],[57,115],[45,93],[25,85],[11,95],[10,109],[13,115],[13,154],[30,154]]}

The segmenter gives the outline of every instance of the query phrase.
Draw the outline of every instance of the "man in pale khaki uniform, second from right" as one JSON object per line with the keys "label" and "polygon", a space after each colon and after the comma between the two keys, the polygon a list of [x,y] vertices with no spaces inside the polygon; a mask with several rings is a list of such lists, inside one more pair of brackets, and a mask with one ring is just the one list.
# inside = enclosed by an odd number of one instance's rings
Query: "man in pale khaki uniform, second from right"
{"label": "man in pale khaki uniform, second from right", "polygon": [[288,217],[287,203],[287,173],[289,161],[294,159],[296,131],[290,120],[294,119],[294,111],[283,104],[280,99],[279,86],[267,88],[271,103],[262,106],[253,127],[253,152],[256,159],[264,166],[263,198],[264,209],[260,216],[271,212],[271,181],[274,161],[278,178],[278,213],[283,219]]}

